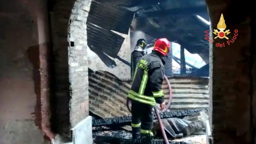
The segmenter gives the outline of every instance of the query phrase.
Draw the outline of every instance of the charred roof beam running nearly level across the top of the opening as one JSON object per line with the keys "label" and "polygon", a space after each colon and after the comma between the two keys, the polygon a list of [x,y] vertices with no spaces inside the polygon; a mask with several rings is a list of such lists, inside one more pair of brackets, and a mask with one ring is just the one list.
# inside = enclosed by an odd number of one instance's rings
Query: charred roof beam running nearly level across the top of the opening
{"label": "charred roof beam running nearly level across the top of the opening", "polygon": [[186,7],[186,8],[175,8],[169,10],[160,10],[154,12],[137,12],[135,17],[159,17],[166,15],[191,15],[196,13],[208,13],[207,7],[205,6],[196,6],[196,7]]}

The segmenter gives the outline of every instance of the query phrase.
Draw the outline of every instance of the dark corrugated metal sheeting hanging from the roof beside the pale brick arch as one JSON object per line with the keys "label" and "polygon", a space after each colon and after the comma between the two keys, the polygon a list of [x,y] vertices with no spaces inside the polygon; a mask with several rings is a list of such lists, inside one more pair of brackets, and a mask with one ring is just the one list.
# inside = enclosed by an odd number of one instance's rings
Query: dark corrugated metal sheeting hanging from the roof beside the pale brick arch
{"label": "dark corrugated metal sheeting hanging from the roof beside the pale brick arch", "polygon": [[134,13],[111,4],[92,1],[87,18],[87,42],[97,53],[116,58],[124,38],[113,31],[128,34]]}

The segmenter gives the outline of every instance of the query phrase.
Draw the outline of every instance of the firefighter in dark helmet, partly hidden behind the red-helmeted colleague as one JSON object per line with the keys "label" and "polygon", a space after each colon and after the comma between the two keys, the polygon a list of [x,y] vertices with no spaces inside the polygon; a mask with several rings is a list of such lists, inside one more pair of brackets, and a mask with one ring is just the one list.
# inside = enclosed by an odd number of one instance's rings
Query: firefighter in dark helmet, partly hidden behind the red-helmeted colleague
{"label": "firefighter in dark helmet, partly hidden behind the red-helmeted colleague", "polygon": [[137,40],[135,49],[131,53],[131,77],[132,78],[134,75],[134,71],[135,71],[138,59],[143,57],[146,54],[146,51],[145,51],[146,46],[147,46],[146,40],[139,39],[139,40]]}

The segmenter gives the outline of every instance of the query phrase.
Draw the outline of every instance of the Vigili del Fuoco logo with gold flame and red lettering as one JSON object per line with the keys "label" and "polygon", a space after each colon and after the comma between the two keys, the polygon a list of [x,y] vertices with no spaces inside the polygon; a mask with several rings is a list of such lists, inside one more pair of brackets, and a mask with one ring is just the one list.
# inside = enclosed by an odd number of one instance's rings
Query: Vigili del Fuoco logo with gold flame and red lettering
{"label": "Vigili del Fuoco logo with gold flame and red lettering", "polygon": [[[236,37],[238,36],[238,30],[237,30],[237,29],[234,30],[234,36],[233,36],[232,39],[230,40],[230,39],[229,39],[229,37],[230,37],[229,34],[230,34],[231,32],[230,32],[230,30],[226,30],[226,28],[227,28],[227,26],[226,26],[226,24],[225,24],[225,20],[224,20],[223,14],[221,14],[220,21],[219,21],[219,23],[217,24],[217,29],[218,29],[219,31],[213,29],[213,34],[215,35],[214,40],[225,38],[225,39],[227,39],[227,41],[226,41],[227,44],[230,45],[231,43],[234,43],[234,42],[235,42]],[[207,40],[207,41],[209,41],[211,44],[213,44],[213,41],[214,41],[214,40],[209,37],[209,30],[204,31],[204,33],[206,33],[206,34],[204,34],[204,36],[205,36],[204,39]],[[215,44],[215,46],[216,46],[216,47],[225,47],[225,42],[223,42],[223,43],[218,42],[218,43]]]}

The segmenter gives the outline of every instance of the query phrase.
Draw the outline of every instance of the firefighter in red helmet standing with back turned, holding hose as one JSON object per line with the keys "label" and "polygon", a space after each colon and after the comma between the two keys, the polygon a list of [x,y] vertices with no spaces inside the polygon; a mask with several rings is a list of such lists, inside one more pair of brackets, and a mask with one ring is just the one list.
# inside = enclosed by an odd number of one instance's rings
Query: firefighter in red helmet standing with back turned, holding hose
{"label": "firefighter in red helmet standing with back turned, holding hose", "polygon": [[151,144],[153,133],[153,108],[160,104],[164,110],[163,57],[170,51],[170,42],[166,38],[156,40],[152,53],[140,58],[134,72],[133,82],[128,94],[131,99],[132,138],[134,143],[141,139],[142,144]]}

